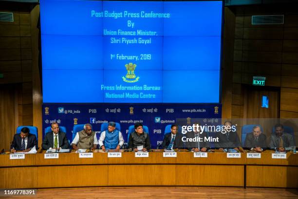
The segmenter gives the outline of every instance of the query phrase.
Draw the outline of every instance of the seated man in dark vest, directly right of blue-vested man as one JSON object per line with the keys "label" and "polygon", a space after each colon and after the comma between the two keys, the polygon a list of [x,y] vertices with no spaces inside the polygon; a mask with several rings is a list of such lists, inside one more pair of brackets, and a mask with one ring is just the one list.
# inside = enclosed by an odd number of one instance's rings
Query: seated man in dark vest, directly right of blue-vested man
{"label": "seated man in dark vest, directly right of blue-vested man", "polygon": [[134,132],[130,133],[128,145],[135,152],[138,151],[138,146],[143,146],[142,151],[150,150],[149,134],[143,131],[143,125],[141,123],[134,124]]}

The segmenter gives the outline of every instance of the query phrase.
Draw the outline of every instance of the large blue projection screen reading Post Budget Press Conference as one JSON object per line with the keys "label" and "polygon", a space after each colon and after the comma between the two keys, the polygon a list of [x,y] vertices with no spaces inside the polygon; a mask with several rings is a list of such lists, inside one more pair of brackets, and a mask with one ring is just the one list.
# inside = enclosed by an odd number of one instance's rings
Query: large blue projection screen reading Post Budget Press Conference
{"label": "large blue projection screen reading Post Budget Press Conference", "polygon": [[40,0],[43,102],[218,103],[222,6]]}

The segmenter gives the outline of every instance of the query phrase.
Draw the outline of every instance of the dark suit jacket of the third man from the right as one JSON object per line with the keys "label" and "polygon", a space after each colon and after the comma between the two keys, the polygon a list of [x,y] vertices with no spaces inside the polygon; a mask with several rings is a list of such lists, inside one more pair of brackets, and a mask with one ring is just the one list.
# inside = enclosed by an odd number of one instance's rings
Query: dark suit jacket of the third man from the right
{"label": "dark suit jacket of the third man from the right", "polygon": [[227,137],[226,133],[217,132],[216,137],[218,137],[219,142],[214,144],[215,148],[237,148],[241,146],[236,131],[230,131],[229,137]]}

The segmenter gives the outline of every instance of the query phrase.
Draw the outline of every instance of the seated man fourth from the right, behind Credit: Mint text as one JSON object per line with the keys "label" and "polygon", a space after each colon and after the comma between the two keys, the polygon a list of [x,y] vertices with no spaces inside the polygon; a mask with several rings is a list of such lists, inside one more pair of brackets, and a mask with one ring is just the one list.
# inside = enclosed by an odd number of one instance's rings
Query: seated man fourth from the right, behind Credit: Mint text
{"label": "seated man fourth from the right, behind Credit: Mint text", "polygon": [[[209,142],[205,141],[205,138],[208,138],[207,133],[201,131],[201,125],[200,123],[197,123],[192,131],[186,133],[186,147],[188,150],[205,152],[209,148]],[[191,139],[192,142],[190,142],[189,139]],[[195,141],[193,141],[194,139]]]}

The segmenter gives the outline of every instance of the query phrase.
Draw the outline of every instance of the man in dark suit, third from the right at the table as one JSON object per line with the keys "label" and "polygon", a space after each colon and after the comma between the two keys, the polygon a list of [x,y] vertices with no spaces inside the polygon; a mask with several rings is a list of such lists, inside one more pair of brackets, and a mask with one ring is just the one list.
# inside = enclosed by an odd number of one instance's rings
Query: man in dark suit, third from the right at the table
{"label": "man in dark suit, third from the right at the table", "polygon": [[238,150],[238,147],[241,146],[236,127],[232,126],[232,123],[229,121],[224,122],[222,131],[217,132],[216,137],[218,137],[219,142],[215,143],[215,147],[219,148],[221,151],[223,151],[224,148],[234,148]]}

